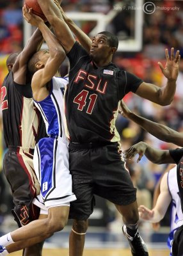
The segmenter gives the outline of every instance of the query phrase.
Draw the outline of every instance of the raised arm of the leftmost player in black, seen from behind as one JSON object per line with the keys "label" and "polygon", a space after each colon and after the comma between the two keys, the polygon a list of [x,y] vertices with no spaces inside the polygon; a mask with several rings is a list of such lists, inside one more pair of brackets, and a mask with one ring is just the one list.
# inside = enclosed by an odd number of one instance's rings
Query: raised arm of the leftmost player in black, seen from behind
{"label": "raised arm of the leftmost player in black, seen from behind", "polygon": [[44,38],[41,31],[36,29],[13,65],[13,80],[15,83],[26,84],[28,61],[31,56],[33,56],[33,54],[40,49],[43,42]]}

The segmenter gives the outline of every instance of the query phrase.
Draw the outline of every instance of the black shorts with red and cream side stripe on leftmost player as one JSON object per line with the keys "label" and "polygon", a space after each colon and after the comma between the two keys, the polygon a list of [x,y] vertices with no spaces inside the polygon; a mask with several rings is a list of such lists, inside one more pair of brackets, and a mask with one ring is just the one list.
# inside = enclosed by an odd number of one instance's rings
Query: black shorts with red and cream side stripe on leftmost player
{"label": "black shorts with red and cream side stripe on leftmost player", "polygon": [[40,184],[33,168],[33,149],[10,146],[3,159],[3,170],[12,189],[15,221],[21,227],[36,220],[39,209],[32,201],[40,193]]}

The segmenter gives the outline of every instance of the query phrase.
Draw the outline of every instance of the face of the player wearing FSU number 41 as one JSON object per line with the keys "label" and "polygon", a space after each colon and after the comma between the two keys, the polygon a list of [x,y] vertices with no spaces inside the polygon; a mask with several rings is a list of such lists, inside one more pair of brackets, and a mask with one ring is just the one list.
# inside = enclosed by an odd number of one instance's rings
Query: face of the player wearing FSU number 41
{"label": "face of the player wearing FSU number 41", "polygon": [[111,56],[112,47],[109,46],[107,36],[97,34],[92,39],[92,45],[90,47],[90,57],[95,60],[101,60]]}

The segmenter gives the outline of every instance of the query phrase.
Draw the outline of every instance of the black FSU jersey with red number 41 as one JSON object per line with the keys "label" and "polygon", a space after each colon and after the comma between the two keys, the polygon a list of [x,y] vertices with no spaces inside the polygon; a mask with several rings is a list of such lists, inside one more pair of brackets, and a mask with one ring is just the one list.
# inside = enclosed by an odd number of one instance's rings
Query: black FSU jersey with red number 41
{"label": "black FSU jersey with red number 41", "polygon": [[115,121],[120,100],[126,93],[135,92],[141,79],[113,63],[96,67],[77,42],[67,56],[70,72],[65,105],[70,140],[119,141]]}

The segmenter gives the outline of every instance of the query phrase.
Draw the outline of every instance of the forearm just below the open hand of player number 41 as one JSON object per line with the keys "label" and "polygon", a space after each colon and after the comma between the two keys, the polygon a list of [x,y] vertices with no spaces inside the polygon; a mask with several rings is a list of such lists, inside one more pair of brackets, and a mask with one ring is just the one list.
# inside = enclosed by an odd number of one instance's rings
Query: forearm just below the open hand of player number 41
{"label": "forearm just below the open hand of player number 41", "polygon": [[160,100],[164,102],[164,106],[169,105],[174,98],[176,91],[176,81],[167,80],[166,86],[163,86],[160,90]]}

